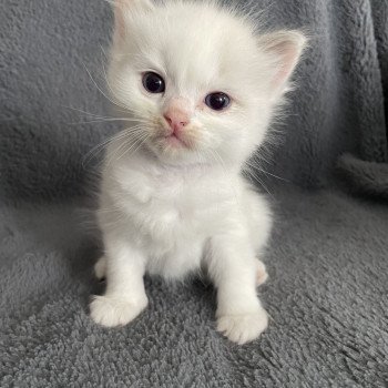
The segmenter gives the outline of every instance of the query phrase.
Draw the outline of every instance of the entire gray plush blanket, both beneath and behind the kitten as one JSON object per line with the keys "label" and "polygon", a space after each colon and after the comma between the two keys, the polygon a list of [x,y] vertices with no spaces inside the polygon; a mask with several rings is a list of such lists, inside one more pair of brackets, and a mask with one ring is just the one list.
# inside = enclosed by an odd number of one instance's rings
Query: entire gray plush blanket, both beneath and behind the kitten
{"label": "entire gray plush blanket, both beneath and behind the kitten", "polygon": [[103,285],[79,198],[101,157],[85,155],[118,125],[81,111],[110,114],[110,7],[1,2],[1,387],[388,385],[388,3],[254,4],[268,28],[312,40],[278,144],[259,151],[282,177],[259,176],[277,213],[259,289],[272,320],[238,347],[215,333],[214,290],[198,280],[147,278],[150,307],[133,324],[91,323]]}

